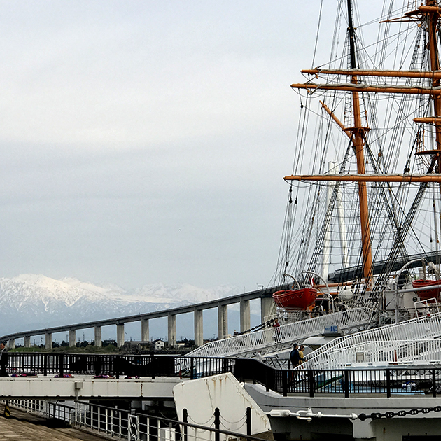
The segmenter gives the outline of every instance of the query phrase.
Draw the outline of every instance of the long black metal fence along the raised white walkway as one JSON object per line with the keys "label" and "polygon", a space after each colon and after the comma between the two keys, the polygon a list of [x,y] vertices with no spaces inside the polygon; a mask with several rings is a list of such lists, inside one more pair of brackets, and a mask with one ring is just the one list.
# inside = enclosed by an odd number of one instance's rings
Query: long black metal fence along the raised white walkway
{"label": "long black metal fence along the raised white walkway", "polygon": [[383,369],[280,370],[258,360],[242,358],[177,357],[158,355],[95,355],[9,353],[10,375],[65,377],[74,374],[127,377],[181,377],[196,379],[232,372],[239,381],[262,384],[267,391],[342,394],[377,393],[417,395],[441,393],[441,368],[391,367]]}

